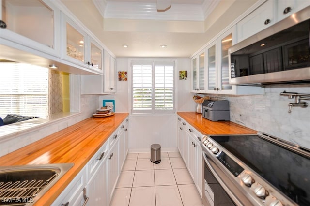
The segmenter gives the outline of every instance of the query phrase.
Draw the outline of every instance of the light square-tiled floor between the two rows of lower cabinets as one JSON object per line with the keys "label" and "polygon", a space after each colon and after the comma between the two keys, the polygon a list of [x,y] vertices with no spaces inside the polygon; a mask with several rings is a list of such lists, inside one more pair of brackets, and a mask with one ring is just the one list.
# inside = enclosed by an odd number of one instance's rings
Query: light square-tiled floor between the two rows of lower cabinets
{"label": "light square-tiled floor between the two rows of lower cabinets", "polygon": [[202,199],[179,152],[129,153],[110,206],[202,206]]}

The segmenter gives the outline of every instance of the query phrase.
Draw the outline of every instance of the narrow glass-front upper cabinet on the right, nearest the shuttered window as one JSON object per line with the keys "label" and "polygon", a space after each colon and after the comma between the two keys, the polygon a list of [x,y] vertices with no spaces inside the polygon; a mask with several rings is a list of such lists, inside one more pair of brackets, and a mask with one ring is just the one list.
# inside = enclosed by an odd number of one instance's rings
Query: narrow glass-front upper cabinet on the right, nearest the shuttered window
{"label": "narrow glass-front upper cabinet on the right, nearest the shuttered window", "polygon": [[191,59],[192,68],[192,92],[204,92],[205,90],[205,51]]}

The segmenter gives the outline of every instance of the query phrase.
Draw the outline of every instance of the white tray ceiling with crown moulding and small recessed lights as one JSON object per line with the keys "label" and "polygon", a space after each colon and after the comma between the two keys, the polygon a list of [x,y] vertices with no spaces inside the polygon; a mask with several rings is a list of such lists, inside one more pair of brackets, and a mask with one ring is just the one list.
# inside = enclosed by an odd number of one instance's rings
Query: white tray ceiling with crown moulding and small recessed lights
{"label": "white tray ceiling with crown moulding and small recessed lights", "polygon": [[206,43],[204,20],[219,0],[171,0],[165,12],[156,0],[93,2],[104,17],[101,39],[116,57],[188,58]]}

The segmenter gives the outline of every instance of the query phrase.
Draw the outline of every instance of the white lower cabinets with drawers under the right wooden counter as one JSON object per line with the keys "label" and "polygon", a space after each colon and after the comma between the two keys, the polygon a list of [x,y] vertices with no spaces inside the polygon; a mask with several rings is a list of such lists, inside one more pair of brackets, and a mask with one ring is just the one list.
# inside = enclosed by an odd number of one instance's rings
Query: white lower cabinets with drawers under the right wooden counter
{"label": "white lower cabinets with drawers under the right wooden counter", "polygon": [[[193,178],[200,196],[202,197],[203,157],[202,147],[200,146],[202,134],[193,129],[190,124],[180,117],[178,117],[178,122],[178,140],[182,139],[182,141],[178,142],[178,149],[179,151],[182,151],[180,152],[181,156],[186,164],[190,176]],[[180,149],[180,147],[182,147],[182,149]]]}

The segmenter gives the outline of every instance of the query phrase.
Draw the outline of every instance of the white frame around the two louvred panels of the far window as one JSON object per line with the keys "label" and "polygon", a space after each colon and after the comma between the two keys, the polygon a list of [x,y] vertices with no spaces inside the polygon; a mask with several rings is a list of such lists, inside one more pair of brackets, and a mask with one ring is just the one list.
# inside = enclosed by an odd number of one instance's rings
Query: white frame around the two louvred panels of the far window
{"label": "white frame around the two louvred panels of the far window", "polygon": [[[155,109],[155,104],[152,101],[152,109],[150,110],[133,110],[133,62],[152,62],[152,100],[155,98],[155,62],[157,63],[163,63],[163,62],[173,62],[173,109],[171,110],[159,110]],[[157,64],[158,65],[158,64]],[[130,114],[133,115],[157,115],[157,114],[175,114],[176,113],[176,105],[177,105],[177,92],[176,92],[176,71],[177,71],[177,59],[171,59],[171,58],[139,58],[139,59],[128,59],[128,68],[130,73],[128,74],[130,78],[128,80],[130,81],[130,87],[129,87],[129,108],[130,108]]]}

